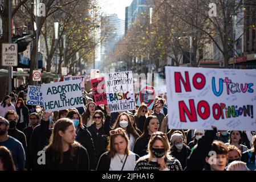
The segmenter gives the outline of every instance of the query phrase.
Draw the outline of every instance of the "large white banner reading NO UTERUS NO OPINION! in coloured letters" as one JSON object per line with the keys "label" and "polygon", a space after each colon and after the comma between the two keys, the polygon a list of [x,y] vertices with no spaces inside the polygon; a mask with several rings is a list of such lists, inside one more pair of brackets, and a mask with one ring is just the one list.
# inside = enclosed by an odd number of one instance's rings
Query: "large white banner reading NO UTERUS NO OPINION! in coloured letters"
{"label": "large white banner reading NO UTERUS NO OPINION! in coloured letters", "polygon": [[171,129],[256,130],[256,71],[165,67]]}

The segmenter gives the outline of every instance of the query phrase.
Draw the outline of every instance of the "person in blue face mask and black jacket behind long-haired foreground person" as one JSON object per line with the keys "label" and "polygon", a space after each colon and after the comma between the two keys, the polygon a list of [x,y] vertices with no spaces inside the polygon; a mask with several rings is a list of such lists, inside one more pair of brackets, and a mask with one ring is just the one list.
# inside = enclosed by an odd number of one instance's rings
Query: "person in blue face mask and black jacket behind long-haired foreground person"
{"label": "person in blue face mask and black jacket behind long-haired foreground person", "polygon": [[76,130],[76,141],[82,144],[86,148],[90,159],[90,170],[95,170],[97,166],[96,151],[94,147],[94,140],[90,131],[88,131],[85,124],[83,124],[81,116],[77,109],[70,109],[67,114],[67,118],[70,118],[74,123]]}

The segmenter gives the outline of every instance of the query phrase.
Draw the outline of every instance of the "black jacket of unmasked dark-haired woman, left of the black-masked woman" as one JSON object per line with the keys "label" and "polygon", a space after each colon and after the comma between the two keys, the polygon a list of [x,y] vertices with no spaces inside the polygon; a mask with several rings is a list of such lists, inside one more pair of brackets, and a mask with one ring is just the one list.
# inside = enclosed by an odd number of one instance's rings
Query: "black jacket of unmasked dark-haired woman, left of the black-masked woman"
{"label": "black jacket of unmasked dark-haired woman, left of the black-masked woman", "polygon": [[150,135],[148,135],[148,136],[145,135],[143,137],[139,137],[135,142],[133,152],[135,154],[139,155],[140,157],[147,155],[148,154],[148,152],[147,152],[148,142],[149,142],[150,138],[151,138]]}

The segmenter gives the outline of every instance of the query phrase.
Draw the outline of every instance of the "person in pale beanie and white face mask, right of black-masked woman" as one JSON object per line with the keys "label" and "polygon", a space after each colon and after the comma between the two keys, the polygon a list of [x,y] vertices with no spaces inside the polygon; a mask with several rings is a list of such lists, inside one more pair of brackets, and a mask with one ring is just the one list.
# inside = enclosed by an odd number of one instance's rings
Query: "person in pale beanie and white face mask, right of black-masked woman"
{"label": "person in pale beanie and white face mask, right of black-masked woman", "polygon": [[188,158],[191,150],[186,146],[181,131],[174,131],[170,138],[170,154],[180,161],[182,169],[186,168],[186,158]]}

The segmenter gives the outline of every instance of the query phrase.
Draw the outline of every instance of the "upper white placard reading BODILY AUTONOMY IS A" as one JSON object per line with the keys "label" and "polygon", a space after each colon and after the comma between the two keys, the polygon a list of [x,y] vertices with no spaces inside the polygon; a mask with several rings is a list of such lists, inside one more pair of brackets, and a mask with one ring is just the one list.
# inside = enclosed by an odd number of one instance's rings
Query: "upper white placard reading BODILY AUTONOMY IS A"
{"label": "upper white placard reading BODILY AUTONOMY IS A", "polygon": [[134,93],[132,71],[107,73],[105,84],[107,93]]}

